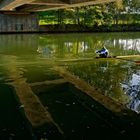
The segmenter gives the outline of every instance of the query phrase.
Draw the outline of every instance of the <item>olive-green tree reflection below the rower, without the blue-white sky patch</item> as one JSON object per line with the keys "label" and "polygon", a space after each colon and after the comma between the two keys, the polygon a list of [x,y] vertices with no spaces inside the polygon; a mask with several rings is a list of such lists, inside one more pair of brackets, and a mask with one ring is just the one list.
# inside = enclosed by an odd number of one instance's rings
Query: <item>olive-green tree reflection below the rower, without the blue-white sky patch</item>
{"label": "olive-green tree reflection below the rower, without the blue-white sky patch", "polygon": [[69,65],[67,68],[91,86],[95,86],[102,94],[126,104],[128,97],[123,94],[120,83],[127,76],[125,71],[127,68],[122,66],[124,63],[118,61],[98,60],[86,64]]}

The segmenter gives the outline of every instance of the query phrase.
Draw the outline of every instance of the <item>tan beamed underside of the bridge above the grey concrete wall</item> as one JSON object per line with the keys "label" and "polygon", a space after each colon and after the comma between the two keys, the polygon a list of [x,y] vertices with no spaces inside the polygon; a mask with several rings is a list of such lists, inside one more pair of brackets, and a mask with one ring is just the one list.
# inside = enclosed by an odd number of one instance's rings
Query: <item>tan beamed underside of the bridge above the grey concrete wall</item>
{"label": "tan beamed underside of the bridge above the grey concrete wall", "polygon": [[116,0],[0,0],[0,11],[37,12],[114,1]]}

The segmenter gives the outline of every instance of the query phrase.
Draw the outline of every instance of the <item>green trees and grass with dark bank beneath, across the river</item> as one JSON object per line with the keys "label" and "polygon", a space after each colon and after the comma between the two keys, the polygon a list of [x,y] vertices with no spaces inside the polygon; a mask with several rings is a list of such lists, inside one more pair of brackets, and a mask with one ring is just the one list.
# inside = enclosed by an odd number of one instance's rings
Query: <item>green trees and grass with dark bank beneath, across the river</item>
{"label": "green trees and grass with dark bank beneath, across the river", "polygon": [[38,13],[40,32],[140,31],[139,0],[43,11]]}

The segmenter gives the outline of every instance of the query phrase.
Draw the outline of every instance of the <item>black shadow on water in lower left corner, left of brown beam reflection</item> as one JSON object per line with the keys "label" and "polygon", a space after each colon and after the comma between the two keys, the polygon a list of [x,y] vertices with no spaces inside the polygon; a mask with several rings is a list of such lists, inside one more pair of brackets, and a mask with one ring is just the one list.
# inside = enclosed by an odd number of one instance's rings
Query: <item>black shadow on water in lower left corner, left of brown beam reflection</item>
{"label": "black shadow on water in lower left corner, left of brown beam reflection", "polygon": [[12,86],[0,84],[0,139],[34,139],[30,123]]}

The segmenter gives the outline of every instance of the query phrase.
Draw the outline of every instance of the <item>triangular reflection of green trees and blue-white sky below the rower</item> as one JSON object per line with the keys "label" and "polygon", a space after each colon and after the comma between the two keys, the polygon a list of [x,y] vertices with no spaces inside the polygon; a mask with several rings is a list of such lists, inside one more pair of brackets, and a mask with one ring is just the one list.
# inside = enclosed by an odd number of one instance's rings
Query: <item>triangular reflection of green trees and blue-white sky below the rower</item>
{"label": "triangular reflection of green trees and blue-white sky below the rower", "polygon": [[68,64],[66,68],[105,96],[140,113],[139,66],[127,61],[99,59]]}

